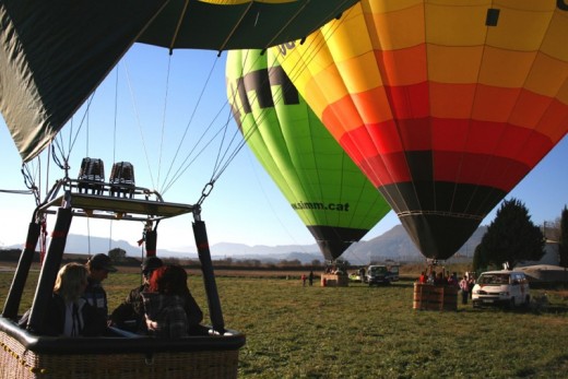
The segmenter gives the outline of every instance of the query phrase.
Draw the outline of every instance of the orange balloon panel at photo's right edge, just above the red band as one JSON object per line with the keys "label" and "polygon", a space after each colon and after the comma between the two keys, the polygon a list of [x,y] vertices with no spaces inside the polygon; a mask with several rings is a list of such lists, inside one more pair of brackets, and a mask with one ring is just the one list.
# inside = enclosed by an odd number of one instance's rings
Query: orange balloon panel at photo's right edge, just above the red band
{"label": "orange balloon panel at photo's right edge, just above the red band", "polygon": [[539,54],[531,72],[526,76],[524,87],[529,91],[555,97],[568,78],[568,62]]}

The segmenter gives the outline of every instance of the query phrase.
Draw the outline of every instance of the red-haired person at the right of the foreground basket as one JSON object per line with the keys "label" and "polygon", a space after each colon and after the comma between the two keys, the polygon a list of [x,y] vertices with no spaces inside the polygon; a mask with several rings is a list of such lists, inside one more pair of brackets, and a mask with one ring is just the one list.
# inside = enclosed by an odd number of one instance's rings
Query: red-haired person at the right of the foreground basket
{"label": "red-haired person at the right of the foreground basket", "polygon": [[145,322],[150,335],[182,337],[204,334],[203,318],[187,285],[187,273],[175,264],[156,269],[150,277],[149,292],[142,293]]}

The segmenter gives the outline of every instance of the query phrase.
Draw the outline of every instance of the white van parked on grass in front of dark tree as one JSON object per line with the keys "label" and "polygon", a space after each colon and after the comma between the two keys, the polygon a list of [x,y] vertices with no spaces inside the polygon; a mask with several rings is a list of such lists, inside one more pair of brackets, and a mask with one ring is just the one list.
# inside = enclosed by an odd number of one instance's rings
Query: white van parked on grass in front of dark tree
{"label": "white van parked on grass in front of dark tree", "polygon": [[531,301],[529,282],[520,271],[487,271],[480,275],[472,291],[473,307],[528,306]]}

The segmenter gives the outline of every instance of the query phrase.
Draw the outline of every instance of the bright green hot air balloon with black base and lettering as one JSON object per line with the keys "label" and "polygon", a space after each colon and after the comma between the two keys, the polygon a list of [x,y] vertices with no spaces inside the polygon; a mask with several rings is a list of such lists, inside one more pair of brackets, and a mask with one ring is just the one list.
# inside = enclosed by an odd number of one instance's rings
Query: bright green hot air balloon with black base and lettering
{"label": "bright green hot air balloon with black base and lettering", "polygon": [[334,261],[389,211],[269,51],[232,50],[227,97],[258,161]]}

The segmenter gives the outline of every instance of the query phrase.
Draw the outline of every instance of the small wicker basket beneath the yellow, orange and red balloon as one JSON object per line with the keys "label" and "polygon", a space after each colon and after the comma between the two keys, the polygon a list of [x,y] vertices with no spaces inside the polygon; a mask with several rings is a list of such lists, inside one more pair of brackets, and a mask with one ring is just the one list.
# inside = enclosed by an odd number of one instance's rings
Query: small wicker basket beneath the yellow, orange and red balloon
{"label": "small wicker basket beneath the yellow, orange and red balloon", "polygon": [[458,310],[458,291],[455,286],[414,283],[413,309]]}

